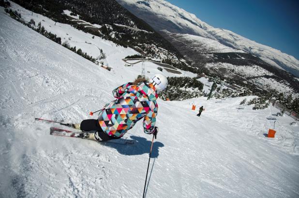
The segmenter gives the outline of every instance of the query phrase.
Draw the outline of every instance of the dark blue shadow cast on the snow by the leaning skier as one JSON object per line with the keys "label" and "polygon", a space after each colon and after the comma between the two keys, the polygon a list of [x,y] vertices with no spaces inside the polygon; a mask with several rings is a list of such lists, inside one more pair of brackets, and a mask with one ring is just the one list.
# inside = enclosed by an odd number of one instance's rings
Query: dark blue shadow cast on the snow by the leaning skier
{"label": "dark blue shadow cast on the snow by the leaning skier", "polygon": [[[120,154],[126,156],[137,156],[150,152],[151,141],[146,138],[130,136],[134,140],[134,144],[120,145],[117,143],[104,142],[105,146],[116,149]],[[159,147],[163,147],[164,144],[159,141],[154,141],[152,146],[151,158],[157,158],[159,156]]]}

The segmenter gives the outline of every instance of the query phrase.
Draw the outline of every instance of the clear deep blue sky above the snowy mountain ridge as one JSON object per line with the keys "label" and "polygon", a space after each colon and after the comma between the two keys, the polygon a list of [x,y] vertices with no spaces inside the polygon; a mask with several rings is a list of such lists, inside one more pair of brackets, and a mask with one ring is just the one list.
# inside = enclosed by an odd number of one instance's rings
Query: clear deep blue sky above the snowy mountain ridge
{"label": "clear deep blue sky above the snowy mountain ridge", "polygon": [[299,59],[299,0],[167,0],[214,28]]}

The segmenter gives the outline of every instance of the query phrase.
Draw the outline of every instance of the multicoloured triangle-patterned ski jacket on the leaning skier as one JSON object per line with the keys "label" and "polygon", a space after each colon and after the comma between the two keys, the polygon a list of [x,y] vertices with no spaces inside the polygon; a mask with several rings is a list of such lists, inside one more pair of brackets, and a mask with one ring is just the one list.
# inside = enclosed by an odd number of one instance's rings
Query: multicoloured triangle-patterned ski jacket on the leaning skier
{"label": "multicoloured triangle-patterned ski jacket on the leaning skier", "polygon": [[106,104],[99,113],[99,124],[109,136],[122,137],[143,118],[144,132],[155,130],[158,104],[155,87],[149,82],[127,83],[112,91],[117,98]]}

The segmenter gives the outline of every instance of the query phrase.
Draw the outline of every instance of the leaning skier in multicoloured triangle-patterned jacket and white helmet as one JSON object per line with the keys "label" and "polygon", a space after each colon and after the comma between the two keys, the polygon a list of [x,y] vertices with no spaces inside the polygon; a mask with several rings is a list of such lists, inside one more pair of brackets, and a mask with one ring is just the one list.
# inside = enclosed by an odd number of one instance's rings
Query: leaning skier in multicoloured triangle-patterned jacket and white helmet
{"label": "leaning skier in multicoloured triangle-patterned jacket and white helmet", "polygon": [[144,132],[154,134],[156,137],[158,133],[158,127],[155,127],[158,111],[156,99],[167,84],[167,78],[157,73],[149,81],[137,78],[133,83],[121,85],[112,91],[116,100],[105,105],[98,119],[83,120],[81,124],[75,124],[75,128],[92,131],[89,133],[89,139],[109,141],[121,138],[143,118]]}

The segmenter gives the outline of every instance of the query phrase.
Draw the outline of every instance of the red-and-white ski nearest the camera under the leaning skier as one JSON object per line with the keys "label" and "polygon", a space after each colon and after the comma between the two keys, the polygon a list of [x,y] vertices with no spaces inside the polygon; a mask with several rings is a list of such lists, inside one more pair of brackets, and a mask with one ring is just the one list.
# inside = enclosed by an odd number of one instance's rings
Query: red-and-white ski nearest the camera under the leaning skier
{"label": "red-and-white ski nearest the camera under the leaning skier", "polygon": [[[66,130],[62,128],[57,128],[57,127],[50,127],[50,135],[55,135],[55,136],[62,136],[62,137],[70,137],[70,138],[81,138],[81,139],[87,139],[87,140],[93,140],[97,141],[94,139],[94,136],[90,137],[90,132],[88,131],[71,131],[71,130]],[[115,143],[115,144],[134,144],[133,140],[126,140],[126,139],[116,139],[116,140],[110,140],[110,141],[98,141],[100,143]]]}

